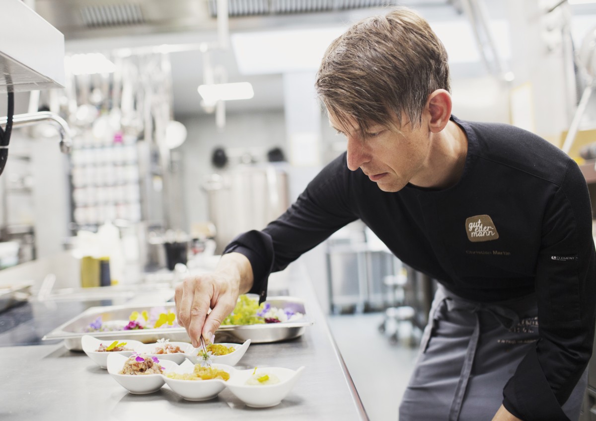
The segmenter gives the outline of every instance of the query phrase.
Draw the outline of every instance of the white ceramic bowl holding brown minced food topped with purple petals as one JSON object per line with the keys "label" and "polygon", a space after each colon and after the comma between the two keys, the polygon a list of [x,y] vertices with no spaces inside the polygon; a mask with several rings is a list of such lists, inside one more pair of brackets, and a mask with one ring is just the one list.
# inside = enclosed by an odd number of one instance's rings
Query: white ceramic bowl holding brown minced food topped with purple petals
{"label": "white ceramic bowl holding brown minced food topped with purple petals", "polygon": [[[126,360],[128,360],[128,357],[116,353],[110,353],[107,360],[108,373],[110,373],[110,375],[114,377],[123,388],[135,395],[150,394],[157,392],[162,388],[165,383],[164,379],[166,378],[163,374],[119,374],[120,370],[124,367]],[[169,360],[160,360],[159,363],[164,367],[163,373],[167,373],[178,367],[178,364]]]}

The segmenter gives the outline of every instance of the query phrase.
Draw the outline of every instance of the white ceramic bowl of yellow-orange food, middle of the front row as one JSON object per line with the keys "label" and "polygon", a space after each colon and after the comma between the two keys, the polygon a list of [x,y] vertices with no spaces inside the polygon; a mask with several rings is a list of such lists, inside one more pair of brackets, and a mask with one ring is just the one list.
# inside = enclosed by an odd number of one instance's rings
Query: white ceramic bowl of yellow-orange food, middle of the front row
{"label": "white ceramic bowl of yellow-orange food, middle of the front row", "polygon": [[[224,370],[228,373],[235,371],[232,367],[224,364],[212,364],[213,368]],[[187,374],[192,373],[194,370],[194,364],[189,360],[184,361],[179,367],[175,367],[169,373]],[[230,377],[232,374],[230,374]],[[225,389],[226,381],[222,379],[212,380],[179,380],[170,379],[164,376],[166,384],[170,386],[170,389],[176,394],[183,397],[188,401],[206,401],[215,398],[219,392]],[[229,380],[228,380],[229,381]]]}

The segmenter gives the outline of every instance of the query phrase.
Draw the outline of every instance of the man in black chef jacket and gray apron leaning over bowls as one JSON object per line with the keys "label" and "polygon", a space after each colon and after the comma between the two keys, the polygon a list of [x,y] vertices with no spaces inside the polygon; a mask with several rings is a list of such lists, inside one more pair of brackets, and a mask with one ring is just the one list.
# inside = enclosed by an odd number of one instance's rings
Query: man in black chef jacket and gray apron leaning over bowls
{"label": "man in black chef jacket and gray apron leaning over bowls", "polygon": [[316,90],[347,151],[280,218],[236,237],[213,273],[176,287],[194,346],[239,293],[265,299],[272,271],[361,219],[439,283],[401,421],[576,421],[596,297],[576,163],[530,132],[452,114],[445,48],[405,8],[333,41]]}

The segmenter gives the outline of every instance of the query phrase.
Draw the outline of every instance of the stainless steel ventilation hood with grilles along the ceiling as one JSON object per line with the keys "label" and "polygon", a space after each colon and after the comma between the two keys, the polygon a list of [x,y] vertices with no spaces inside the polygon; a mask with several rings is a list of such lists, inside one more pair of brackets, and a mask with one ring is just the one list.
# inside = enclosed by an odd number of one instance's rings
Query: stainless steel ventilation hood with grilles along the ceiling
{"label": "stainless steel ventilation hood with grilles along the ceiling", "polygon": [[[449,7],[455,0],[228,0],[231,30],[326,23],[350,10],[405,4]],[[35,10],[66,41],[216,30],[217,0],[36,0]],[[344,16],[343,16],[344,18]]]}

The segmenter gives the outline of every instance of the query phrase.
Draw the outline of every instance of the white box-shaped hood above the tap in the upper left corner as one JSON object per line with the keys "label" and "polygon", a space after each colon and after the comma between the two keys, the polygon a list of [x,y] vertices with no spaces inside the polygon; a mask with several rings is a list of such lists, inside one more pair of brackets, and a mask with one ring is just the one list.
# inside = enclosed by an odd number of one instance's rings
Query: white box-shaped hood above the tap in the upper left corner
{"label": "white box-shaped hood above the tap in the upper left corner", "polygon": [[63,88],[64,36],[21,0],[3,0],[0,92]]}

